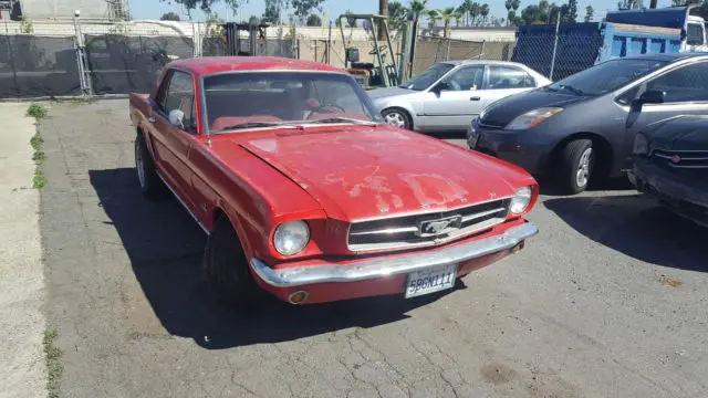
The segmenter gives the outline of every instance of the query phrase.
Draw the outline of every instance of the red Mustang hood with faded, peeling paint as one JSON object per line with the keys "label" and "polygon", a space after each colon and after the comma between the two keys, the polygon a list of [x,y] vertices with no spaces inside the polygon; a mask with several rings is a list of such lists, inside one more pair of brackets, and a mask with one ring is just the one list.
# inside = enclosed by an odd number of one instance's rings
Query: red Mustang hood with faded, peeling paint
{"label": "red Mustang hood with faded, peeling paint", "polygon": [[345,221],[450,209],[514,193],[521,171],[413,132],[378,125],[240,140]]}

